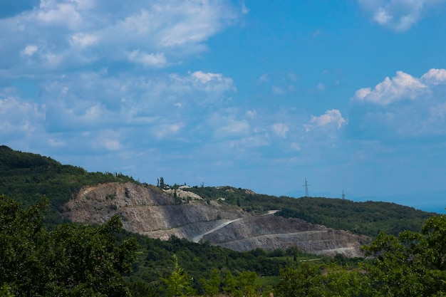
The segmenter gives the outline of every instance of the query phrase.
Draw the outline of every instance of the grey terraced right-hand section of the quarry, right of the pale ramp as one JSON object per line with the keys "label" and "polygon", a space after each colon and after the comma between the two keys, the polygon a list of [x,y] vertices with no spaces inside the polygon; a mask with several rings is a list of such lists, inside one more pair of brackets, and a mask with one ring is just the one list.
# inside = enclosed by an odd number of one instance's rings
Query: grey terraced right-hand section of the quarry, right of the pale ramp
{"label": "grey terraced right-hand section of the quarry, right of the pale ramp", "polygon": [[277,216],[259,216],[240,219],[203,236],[213,244],[235,251],[261,248],[265,250],[286,249],[299,246],[303,251],[334,256],[362,256],[359,246],[368,241],[347,231],[333,230],[326,226],[309,224],[301,219],[285,219]]}

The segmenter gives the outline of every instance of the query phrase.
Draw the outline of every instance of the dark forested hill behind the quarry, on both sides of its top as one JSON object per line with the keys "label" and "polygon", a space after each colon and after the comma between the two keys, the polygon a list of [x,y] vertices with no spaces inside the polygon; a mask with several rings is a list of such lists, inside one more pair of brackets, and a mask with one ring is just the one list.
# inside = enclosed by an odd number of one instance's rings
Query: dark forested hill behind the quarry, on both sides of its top
{"label": "dark forested hill behind the quarry, on both sides of its top", "polygon": [[[106,182],[134,182],[122,173],[87,172],[81,167],[61,165],[60,162],[28,152],[0,146],[0,194],[14,197],[25,205],[34,204],[46,195],[51,207],[46,222],[61,222],[63,206],[81,187]],[[153,187],[145,184],[146,187]],[[175,187],[175,186],[172,186]],[[422,223],[432,213],[422,212],[387,202],[352,202],[343,199],[303,197],[274,197],[256,194],[234,187],[192,187],[204,199],[232,204],[247,212],[279,210],[276,215],[296,217],[333,229],[376,236],[380,231],[398,234],[400,231],[420,231]]]}

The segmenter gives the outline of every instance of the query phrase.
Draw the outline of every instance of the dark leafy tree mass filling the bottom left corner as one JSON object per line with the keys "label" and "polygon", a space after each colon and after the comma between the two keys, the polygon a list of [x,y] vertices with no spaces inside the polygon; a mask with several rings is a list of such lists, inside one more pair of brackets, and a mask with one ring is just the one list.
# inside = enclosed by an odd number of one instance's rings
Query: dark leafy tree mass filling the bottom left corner
{"label": "dark leafy tree mass filling the bottom left corner", "polygon": [[122,273],[130,271],[138,244],[115,244],[122,223],[43,226],[48,202],[27,209],[0,197],[0,283],[14,296],[129,296]]}

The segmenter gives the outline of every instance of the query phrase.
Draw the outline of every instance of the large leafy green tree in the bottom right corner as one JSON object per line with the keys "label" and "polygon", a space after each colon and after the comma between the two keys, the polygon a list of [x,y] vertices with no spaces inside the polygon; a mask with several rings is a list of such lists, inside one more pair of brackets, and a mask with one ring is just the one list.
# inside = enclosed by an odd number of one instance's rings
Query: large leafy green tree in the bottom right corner
{"label": "large leafy green tree in the bottom right corner", "polygon": [[370,287],[380,296],[446,296],[446,216],[427,219],[422,232],[381,233],[363,247]]}

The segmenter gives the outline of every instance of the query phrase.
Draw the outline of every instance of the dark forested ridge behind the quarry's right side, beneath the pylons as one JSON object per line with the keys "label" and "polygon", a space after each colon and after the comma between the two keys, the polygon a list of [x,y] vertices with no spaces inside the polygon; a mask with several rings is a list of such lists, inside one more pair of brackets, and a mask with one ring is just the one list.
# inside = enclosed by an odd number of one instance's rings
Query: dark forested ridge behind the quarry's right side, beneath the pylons
{"label": "dark forested ridge behind the quarry's right side, beneath the pylons", "polygon": [[333,229],[368,236],[378,236],[380,231],[393,235],[405,230],[420,231],[422,223],[433,215],[413,207],[388,202],[274,197],[233,187],[192,187],[186,190],[199,194],[204,199],[219,199],[222,203],[238,205],[248,212],[279,209],[280,212],[276,215],[282,217],[295,217],[313,224],[323,224]]}

